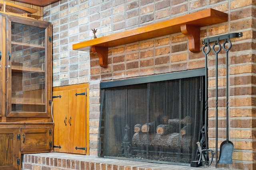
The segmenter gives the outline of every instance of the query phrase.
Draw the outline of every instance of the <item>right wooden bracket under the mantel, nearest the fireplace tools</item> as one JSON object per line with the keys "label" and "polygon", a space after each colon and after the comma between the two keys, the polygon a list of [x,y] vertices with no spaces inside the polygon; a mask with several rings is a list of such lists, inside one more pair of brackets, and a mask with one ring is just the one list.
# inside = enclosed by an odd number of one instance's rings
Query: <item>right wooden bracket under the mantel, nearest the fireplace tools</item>
{"label": "right wooden bracket under the mantel, nearest the fireplace tools", "polygon": [[180,25],[182,34],[188,37],[188,48],[191,52],[200,52],[200,27],[193,25]]}

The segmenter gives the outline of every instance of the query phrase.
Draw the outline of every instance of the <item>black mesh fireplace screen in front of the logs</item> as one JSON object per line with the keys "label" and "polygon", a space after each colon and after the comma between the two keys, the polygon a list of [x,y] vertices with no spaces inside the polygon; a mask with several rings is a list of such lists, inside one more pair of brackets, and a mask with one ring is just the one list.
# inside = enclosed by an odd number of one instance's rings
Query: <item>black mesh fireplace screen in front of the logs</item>
{"label": "black mesh fireplace screen in front of the logs", "polygon": [[99,156],[190,163],[204,120],[202,76],[100,91]]}

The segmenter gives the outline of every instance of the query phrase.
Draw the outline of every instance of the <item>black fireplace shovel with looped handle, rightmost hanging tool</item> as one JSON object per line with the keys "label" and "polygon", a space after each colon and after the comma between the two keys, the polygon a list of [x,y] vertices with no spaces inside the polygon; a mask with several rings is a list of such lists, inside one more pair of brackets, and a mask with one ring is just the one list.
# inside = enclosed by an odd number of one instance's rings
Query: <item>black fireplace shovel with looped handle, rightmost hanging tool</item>
{"label": "black fireplace shovel with looped handle, rightmost hanging tool", "polygon": [[[226,49],[225,45],[226,43],[228,43],[229,48]],[[218,160],[219,164],[232,164],[232,153],[233,153],[233,149],[234,149],[234,145],[231,141],[229,141],[229,135],[228,135],[228,51],[231,49],[231,42],[229,41],[225,41],[223,43],[223,49],[226,51],[226,141],[223,141],[220,144],[220,158]]]}

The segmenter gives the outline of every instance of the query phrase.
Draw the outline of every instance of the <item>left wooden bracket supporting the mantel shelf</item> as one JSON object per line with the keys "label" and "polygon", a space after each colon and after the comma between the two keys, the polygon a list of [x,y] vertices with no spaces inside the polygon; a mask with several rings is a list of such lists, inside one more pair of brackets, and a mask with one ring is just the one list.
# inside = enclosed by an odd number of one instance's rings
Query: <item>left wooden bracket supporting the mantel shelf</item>
{"label": "left wooden bracket supporting the mantel shelf", "polygon": [[108,48],[92,46],[92,53],[98,55],[101,67],[108,67]]}

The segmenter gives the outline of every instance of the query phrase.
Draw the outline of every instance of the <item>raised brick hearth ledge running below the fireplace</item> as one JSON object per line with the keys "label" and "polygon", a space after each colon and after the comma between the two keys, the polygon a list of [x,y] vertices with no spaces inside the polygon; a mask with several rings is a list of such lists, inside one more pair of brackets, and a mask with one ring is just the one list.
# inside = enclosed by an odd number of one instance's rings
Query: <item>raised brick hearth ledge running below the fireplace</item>
{"label": "raised brick hearth ledge running below the fireplace", "polygon": [[[65,153],[24,154],[22,170],[218,170]],[[223,170],[223,169],[222,169]]]}

